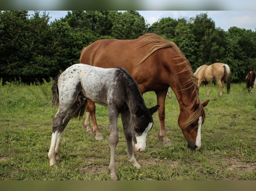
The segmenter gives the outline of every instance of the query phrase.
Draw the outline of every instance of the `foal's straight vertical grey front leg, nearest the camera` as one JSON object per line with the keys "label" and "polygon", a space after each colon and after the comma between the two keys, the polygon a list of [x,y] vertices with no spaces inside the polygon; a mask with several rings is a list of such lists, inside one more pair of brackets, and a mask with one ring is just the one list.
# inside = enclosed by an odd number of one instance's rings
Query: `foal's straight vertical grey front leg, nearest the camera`
{"label": "foal's straight vertical grey front leg, nearest the camera", "polygon": [[112,180],[118,180],[116,175],[116,145],[118,143],[118,130],[117,130],[117,119],[118,119],[119,112],[115,108],[115,106],[109,107],[109,124],[110,124],[110,137],[109,137],[109,144],[110,144],[110,162],[109,162],[109,172],[111,175]]}

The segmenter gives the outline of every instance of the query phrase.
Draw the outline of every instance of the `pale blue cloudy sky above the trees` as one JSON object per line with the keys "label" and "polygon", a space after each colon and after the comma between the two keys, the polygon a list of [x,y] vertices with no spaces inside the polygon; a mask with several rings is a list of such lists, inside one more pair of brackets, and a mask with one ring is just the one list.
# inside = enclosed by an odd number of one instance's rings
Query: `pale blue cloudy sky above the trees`
{"label": "pale blue cloudy sky above the trees", "polygon": [[[236,26],[238,28],[251,29],[255,31],[256,28],[256,11],[138,11],[144,17],[146,23],[159,21],[161,18],[185,18],[189,20],[191,17],[196,17],[200,13],[207,13],[208,18],[215,22],[215,27],[228,31],[230,27]],[[42,14],[43,11],[40,11]],[[50,21],[60,19],[68,14],[68,11],[46,11],[51,17]],[[34,14],[34,11],[29,11],[29,14]]]}

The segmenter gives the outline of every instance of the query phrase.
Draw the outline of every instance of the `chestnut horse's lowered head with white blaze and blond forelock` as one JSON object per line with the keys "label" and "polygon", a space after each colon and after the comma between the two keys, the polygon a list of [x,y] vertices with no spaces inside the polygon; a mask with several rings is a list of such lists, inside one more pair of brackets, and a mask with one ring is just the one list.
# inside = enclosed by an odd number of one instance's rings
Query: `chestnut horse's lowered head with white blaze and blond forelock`
{"label": "chestnut horse's lowered head with white blaze and blond forelock", "polygon": [[196,103],[191,108],[180,110],[178,123],[187,141],[187,147],[199,150],[201,147],[201,126],[205,122],[204,108],[209,100],[204,103]]}

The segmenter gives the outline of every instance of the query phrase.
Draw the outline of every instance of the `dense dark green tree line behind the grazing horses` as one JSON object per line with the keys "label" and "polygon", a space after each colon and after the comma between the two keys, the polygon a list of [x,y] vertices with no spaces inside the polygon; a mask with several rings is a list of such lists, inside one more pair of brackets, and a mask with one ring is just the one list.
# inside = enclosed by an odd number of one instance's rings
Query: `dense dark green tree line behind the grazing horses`
{"label": "dense dark green tree line behind the grazing horses", "polygon": [[216,27],[207,13],[162,18],[151,26],[137,11],[72,11],[50,20],[46,12],[0,12],[0,78],[49,79],[79,63],[82,49],[99,39],[136,39],[155,33],[174,42],[195,70],[215,62],[228,64],[232,82],[244,82],[256,70],[255,31]]}

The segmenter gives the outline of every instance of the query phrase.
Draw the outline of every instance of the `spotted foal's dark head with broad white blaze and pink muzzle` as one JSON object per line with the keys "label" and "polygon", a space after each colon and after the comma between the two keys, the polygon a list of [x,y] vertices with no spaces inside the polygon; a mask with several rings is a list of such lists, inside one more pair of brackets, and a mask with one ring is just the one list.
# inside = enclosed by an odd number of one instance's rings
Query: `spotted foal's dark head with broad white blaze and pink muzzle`
{"label": "spotted foal's dark head with broad white blaze and pink muzzle", "polygon": [[137,152],[142,152],[146,148],[147,133],[153,127],[152,114],[157,111],[159,106],[145,108],[137,105],[135,112],[131,113],[131,133]]}

